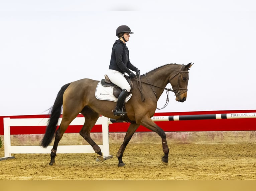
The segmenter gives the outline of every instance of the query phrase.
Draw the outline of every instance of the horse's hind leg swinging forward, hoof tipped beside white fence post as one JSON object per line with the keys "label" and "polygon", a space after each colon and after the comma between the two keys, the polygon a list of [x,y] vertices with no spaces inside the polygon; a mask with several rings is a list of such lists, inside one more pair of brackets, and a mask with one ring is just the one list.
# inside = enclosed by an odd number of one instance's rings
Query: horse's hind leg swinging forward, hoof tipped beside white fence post
{"label": "horse's hind leg swinging forward, hoof tipped beside white fence post", "polygon": [[99,156],[97,156],[98,159],[100,159],[103,162],[104,158],[103,158],[103,154],[101,152],[101,148],[99,147],[98,144],[96,144],[94,142],[94,140],[90,136],[90,132],[91,132],[93,126],[95,125],[96,121],[100,117],[100,115],[97,112],[93,111],[89,107],[85,107],[81,111],[81,113],[85,117],[85,123],[79,133],[93,147],[94,151],[99,155]]}

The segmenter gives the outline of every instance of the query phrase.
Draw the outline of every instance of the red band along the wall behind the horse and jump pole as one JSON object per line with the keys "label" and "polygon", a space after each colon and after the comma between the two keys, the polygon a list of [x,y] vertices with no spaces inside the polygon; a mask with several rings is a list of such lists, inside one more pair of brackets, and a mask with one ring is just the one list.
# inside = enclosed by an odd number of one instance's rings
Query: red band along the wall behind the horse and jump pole
{"label": "red band along the wall behind the horse and jump pole", "polygon": [[[219,114],[219,113],[246,113],[256,110],[225,110],[225,111],[188,111],[188,112],[162,112],[154,116],[166,115],[197,115],[197,114]],[[0,116],[0,134],[3,135],[3,118],[44,118],[46,115],[19,115]],[[48,117],[48,115],[47,115]],[[78,117],[83,117],[79,114]],[[155,122],[164,131],[248,131],[256,130],[256,118],[243,119],[205,119],[205,120],[182,120],[182,121],[158,121]],[[113,123],[109,125],[109,132],[126,132],[130,123]],[[69,126],[66,133],[78,133],[82,125]],[[148,132],[147,128],[139,126],[136,132]],[[43,134],[45,126],[11,127],[11,134]],[[101,125],[95,125],[91,132],[102,132]]]}

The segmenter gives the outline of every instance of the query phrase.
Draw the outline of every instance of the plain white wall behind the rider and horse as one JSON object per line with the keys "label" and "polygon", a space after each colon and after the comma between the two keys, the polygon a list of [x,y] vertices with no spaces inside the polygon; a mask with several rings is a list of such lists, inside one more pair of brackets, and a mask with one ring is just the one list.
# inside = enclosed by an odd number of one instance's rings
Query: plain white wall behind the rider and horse
{"label": "plain white wall behind the rider and horse", "polygon": [[[195,63],[187,100],[177,102],[170,92],[168,106],[156,112],[256,109],[255,5],[0,0],[0,116],[47,113],[62,85],[102,79],[119,25],[135,33],[127,46],[141,74]],[[164,92],[159,108],[165,100]]]}

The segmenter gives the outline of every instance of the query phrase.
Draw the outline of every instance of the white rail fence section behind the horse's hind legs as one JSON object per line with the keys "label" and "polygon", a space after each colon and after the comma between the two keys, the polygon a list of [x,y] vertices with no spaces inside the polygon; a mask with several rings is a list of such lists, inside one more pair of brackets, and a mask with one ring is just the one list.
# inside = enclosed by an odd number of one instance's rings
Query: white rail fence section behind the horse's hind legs
{"label": "white rail fence section behind the horse's hind legs", "polygon": [[[59,118],[58,125],[62,118]],[[4,118],[4,157],[0,160],[7,158],[14,158],[11,156],[13,153],[50,153],[52,146],[42,148],[41,146],[12,146],[11,145],[11,126],[46,126],[48,118],[19,118],[12,119],[9,117]],[[70,125],[83,125],[85,122],[84,117],[75,118]],[[108,118],[100,116],[96,124],[102,125],[102,145],[99,145],[104,155],[104,159],[111,158],[109,154],[109,129]],[[95,153],[91,145],[59,145],[57,153]]]}

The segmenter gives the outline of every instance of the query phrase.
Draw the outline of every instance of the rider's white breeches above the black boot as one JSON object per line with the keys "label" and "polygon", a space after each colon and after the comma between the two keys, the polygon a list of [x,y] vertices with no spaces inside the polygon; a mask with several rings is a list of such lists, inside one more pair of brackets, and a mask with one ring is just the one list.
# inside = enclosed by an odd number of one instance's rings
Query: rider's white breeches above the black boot
{"label": "rider's white breeches above the black boot", "polygon": [[121,72],[118,72],[116,70],[108,70],[108,77],[113,84],[117,85],[122,90],[126,89],[127,92],[131,91],[129,83]]}

